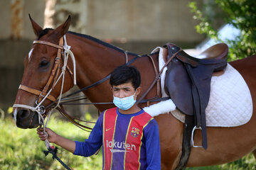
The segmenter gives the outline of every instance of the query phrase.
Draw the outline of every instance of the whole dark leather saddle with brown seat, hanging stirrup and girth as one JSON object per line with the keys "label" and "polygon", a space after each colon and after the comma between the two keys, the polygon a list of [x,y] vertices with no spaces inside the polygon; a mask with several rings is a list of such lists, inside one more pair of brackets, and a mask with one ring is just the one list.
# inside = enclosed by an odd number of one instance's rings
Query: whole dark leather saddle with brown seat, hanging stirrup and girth
{"label": "whole dark leather saddle with brown seat, hanging stirrup and girth", "polygon": [[[164,47],[168,50],[167,60],[181,50],[171,43],[167,43]],[[184,150],[183,154],[186,152],[190,154],[191,147],[201,147],[193,146],[193,142],[192,144],[189,142],[193,140],[193,131],[196,129],[202,131],[202,147],[207,148],[206,106],[210,98],[210,80],[214,72],[225,69],[227,54],[228,46],[224,43],[213,45],[202,52],[201,56],[205,56],[205,59],[191,57],[181,50],[167,65],[166,94],[169,94],[178,110],[186,115],[183,149],[187,151]],[[188,161],[189,154],[184,156],[183,164]]]}

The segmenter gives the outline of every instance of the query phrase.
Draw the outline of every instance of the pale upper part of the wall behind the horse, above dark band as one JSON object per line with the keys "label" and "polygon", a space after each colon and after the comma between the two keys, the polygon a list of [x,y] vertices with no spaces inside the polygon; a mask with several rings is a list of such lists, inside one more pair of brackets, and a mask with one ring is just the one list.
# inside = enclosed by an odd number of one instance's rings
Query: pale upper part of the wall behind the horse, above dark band
{"label": "pale upper part of the wall behind the horse, above dark band", "polygon": [[[13,1],[18,3],[11,3]],[[0,1],[4,23],[0,27],[0,39],[10,38],[12,27],[21,29],[23,39],[35,38],[28,13],[42,27],[47,22],[46,16],[52,17],[50,26],[53,28],[71,15],[70,30],[102,40],[200,42],[204,38],[194,29],[196,21],[187,0],[13,1]],[[47,1],[55,6],[45,14]],[[202,1],[198,0],[199,3]]]}

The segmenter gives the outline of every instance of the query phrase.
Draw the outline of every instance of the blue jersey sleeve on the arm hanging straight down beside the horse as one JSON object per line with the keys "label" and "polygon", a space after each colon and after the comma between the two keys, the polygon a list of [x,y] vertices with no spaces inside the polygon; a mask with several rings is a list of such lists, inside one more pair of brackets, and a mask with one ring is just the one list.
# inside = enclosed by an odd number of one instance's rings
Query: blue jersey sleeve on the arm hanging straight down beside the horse
{"label": "blue jersey sleeve on the arm hanging straight down beside the horse", "polygon": [[161,153],[159,140],[159,126],[152,119],[144,128],[146,145],[146,169],[161,169]]}

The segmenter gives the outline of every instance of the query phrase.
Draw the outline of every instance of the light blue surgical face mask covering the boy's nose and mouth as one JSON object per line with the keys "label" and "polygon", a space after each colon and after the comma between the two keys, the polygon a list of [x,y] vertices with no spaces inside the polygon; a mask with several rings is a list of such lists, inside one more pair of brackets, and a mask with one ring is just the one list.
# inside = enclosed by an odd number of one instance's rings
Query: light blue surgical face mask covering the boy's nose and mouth
{"label": "light blue surgical face mask covering the boy's nose and mouth", "polygon": [[117,108],[120,108],[123,111],[126,111],[129,108],[132,108],[132,106],[134,106],[134,103],[136,102],[136,98],[134,100],[135,94],[136,94],[136,91],[132,96],[128,96],[125,98],[118,98],[118,97],[113,96],[114,97],[113,103],[115,106],[117,106]]}

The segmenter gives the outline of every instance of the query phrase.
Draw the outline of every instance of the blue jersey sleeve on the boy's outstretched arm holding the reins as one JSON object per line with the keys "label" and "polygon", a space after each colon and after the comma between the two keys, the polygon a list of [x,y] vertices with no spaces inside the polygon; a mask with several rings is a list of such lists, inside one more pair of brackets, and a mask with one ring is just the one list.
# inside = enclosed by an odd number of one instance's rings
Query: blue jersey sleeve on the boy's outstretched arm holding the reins
{"label": "blue jersey sleeve on the boy's outstretched arm holding the reins", "polygon": [[102,145],[102,118],[103,113],[97,119],[95,127],[92,129],[89,137],[85,142],[75,141],[75,152],[73,154],[84,157],[90,157],[95,154]]}

